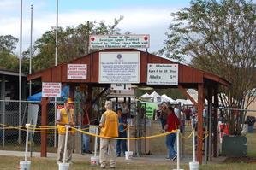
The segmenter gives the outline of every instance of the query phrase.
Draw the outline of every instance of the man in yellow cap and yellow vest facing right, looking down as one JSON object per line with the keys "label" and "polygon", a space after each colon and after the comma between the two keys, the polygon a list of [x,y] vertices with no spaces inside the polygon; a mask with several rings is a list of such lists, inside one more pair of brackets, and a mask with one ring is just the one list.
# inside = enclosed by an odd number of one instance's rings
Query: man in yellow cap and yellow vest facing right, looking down
{"label": "man in yellow cap and yellow vest facing right, looking down", "polygon": [[[63,153],[65,147],[65,138],[66,138],[66,125],[74,126],[75,125],[75,115],[74,110],[72,110],[74,102],[71,98],[67,98],[64,103],[64,108],[60,109],[57,112],[57,129],[58,129],[58,149],[57,149],[57,164],[63,162]],[[72,164],[72,153],[73,153],[73,137],[74,130],[70,128],[68,132],[68,144],[67,144],[67,163]]]}

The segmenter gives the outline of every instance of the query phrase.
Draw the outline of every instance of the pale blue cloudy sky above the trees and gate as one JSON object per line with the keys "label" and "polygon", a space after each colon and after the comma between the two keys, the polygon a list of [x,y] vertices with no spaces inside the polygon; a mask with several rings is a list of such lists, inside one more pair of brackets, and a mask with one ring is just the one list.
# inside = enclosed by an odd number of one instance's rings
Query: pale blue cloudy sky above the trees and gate
{"label": "pale blue cloudy sky above the trees and gate", "polygon": [[[121,33],[150,34],[148,52],[164,47],[165,32],[172,18],[170,13],[189,7],[190,0],[58,0],[58,26],[78,26],[86,21],[105,21],[117,25]],[[33,41],[51,30],[57,23],[57,0],[22,0],[22,51],[27,50],[31,38],[31,14],[33,5]],[[0,35],[11,34],[20,38],[21,0],[0,0]],[[19,51],[19,44],[17,52]]]}

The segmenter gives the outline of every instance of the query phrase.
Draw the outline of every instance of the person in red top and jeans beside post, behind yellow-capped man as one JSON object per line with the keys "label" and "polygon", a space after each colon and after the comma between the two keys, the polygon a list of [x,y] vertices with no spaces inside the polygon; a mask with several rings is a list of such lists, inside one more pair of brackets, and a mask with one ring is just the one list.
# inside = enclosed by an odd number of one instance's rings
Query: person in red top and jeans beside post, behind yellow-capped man
{"label": "person in red top and jeans beside post, behind yellow-capped man", "polygon": [[[90,116],[88,113],[88,103],[85,102],[83,106],[83,129],[85,132],[89,132],[90,127]],[[90,150],[90,136],[83,133],[83,153],[92,154]]]}

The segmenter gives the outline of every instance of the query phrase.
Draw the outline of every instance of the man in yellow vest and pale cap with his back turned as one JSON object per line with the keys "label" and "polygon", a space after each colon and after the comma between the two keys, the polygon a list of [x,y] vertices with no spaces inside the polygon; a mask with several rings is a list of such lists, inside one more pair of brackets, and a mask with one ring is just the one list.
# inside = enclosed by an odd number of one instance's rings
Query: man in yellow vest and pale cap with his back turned
{"label": "man in yellow vest and pale cap with his back turned", "polygon": [[106,101],[105,108],[106,111],[102,114],[99,122],[99,127],[101,128],[99,146],[99,163],[101,169],[106,167],[108,147],[110,150],[110,168],[116,167],[116,140],[104,137],[118,137],[119,128],[118,115],[112,111],[112,102]]}

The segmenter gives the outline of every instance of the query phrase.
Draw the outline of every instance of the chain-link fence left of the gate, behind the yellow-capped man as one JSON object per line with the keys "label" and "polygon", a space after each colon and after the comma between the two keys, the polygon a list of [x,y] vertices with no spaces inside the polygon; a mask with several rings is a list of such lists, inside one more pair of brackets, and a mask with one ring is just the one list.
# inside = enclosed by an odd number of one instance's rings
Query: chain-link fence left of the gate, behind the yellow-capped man
{"label": "chain-link fence left of the gate, behind the yellow-capped man", "polygon": [[[56,115],[57,109],[63,106],[62,101],[51,101],[48,103],[47,126],[47,150],[57,152],[57,128]],[[57,109],[56,109],[57,108]],[[74,113],[77,125],[80,127],[81,103],[74,103]],[[29,132],[29,145],[33,151],[40,151],[41,147],[41,105],[40,102],[28,101],[0,101],[0,144],[4,150],[24,150],[26,142],[27,123],[33,125],[34,131]],[[32,142],[30,142],[32,141]],[[74,143],[77,144],[77,143]],[[79,148],[79,146],[74,146]]]}

